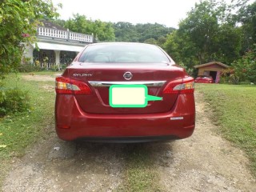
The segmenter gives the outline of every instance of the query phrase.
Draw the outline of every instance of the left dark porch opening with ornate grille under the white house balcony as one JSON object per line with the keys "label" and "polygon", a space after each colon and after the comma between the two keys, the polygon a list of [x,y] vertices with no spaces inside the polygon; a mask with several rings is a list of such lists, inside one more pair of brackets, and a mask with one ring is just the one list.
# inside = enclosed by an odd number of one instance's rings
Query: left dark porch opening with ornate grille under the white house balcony
{"label": "left dark porch opening with ornate grille under the white house balcony", "polygon": [[34,50],[33,51],[33,62],[39,62],[41,67],[52,68],[55,63],[54,50]]}

